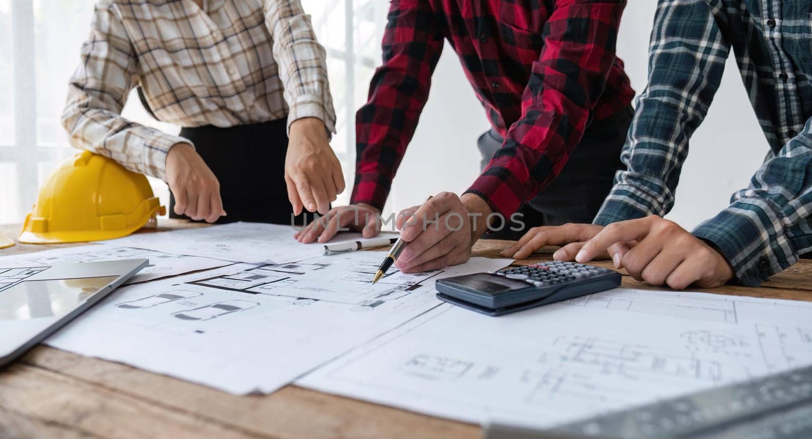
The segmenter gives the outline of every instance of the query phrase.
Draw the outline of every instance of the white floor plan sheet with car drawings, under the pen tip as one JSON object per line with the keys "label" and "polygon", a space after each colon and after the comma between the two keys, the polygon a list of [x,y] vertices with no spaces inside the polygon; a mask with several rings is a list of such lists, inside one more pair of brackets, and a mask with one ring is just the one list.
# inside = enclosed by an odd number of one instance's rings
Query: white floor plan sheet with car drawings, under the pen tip
{"label": "white floor plan sheet with car drawings, under the pen tip", "polygon": [[234,394],[270,393],[438,306],[435,279],[512,262],[472,258],[438,272],[392,270],[373,286],[381,256],[240,264],[127,287],[47,344]]}

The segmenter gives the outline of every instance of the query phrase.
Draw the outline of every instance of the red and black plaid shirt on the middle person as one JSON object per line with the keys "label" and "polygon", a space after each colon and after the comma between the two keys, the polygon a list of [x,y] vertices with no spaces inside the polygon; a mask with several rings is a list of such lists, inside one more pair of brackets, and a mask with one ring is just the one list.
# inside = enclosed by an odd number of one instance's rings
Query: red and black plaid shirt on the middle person
{"label": "red and black plaid shirt on the middle person", "polygon": [[510,215],[559,174],[587,123],[634,95],[615,56],[625,0],[393,0],[383,65],[356,115],[352,202],[382,209],[443,39],[505,142],[468,192]]}

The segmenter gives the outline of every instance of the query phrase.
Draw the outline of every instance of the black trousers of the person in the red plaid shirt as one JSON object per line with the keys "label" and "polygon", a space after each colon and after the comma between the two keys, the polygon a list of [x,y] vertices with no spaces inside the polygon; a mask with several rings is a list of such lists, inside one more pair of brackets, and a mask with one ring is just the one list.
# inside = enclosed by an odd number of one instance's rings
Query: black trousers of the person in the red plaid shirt
{"label": "black trousers of the person in the red plaid shirt", "polygon": [[[620,150],[632,116],[633,110],[629,106],[609,118],[591,123],[558,178],[521,207],[525,229],[510,230],[508,223],[503,230],[491,232],[483,238],[519,239],[530,227],[592,222],[611,190],[615,172],[626,169],[620,161]],[[503,141],[494,130],[479,136],[477,146],[482,153],[482,170],[502,147]]]}

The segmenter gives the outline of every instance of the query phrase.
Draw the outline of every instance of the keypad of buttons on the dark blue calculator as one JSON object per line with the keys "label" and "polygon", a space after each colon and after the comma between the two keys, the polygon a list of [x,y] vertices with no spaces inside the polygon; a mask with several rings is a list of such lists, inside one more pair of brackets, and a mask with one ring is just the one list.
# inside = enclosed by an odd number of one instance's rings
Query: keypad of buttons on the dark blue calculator
{"label": "keypad of buttons on the dark blue calculator", "polygon": [[615,273],[611,269],[602,269],[591,265],[554,260],[523,267],[512,266],[495,272],[508,279],[516,279],[533,284],[533,286],[557,286],[577,282],[587,278],[599,278]]}

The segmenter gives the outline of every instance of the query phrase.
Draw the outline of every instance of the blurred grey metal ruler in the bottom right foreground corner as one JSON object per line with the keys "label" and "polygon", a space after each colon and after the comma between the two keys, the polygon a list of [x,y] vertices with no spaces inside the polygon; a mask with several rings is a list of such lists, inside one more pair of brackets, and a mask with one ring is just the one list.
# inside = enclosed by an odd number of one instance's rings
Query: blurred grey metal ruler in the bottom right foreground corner
{"label": "blurred grey metal ruler in the bottom right foreground corner", "polygon": [[812,439],[812,366],[531,431],[488,439]]}

